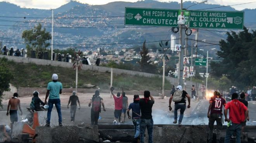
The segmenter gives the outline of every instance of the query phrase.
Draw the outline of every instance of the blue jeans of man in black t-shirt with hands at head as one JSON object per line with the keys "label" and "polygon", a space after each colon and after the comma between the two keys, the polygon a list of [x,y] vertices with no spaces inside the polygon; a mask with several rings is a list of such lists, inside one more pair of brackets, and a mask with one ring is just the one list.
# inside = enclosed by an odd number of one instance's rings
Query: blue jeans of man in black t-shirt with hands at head
{"label": "blue jeans of man in black t-shirt with hands at head", "polygon": [[140,119],[140,143],[144,143],[144,135],[147,127],[147,134],[149,135],[149,143],[153,143],[153,119]]}

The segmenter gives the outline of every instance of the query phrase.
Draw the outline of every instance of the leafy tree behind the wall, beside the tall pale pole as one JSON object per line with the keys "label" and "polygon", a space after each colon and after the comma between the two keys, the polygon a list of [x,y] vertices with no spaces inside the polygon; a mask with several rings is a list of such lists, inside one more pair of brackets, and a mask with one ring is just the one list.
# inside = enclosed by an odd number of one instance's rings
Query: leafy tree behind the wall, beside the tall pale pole
{"label": "leafy tree behind the wall, beside the tall pale pole", "polygon": [[50,46],[49,40],[51,38],[50,32],[47,32],[45,28],[42,30],[41,24],[38,24],[33,29],[22,32],[22,39],[27,44],[26,49],[28,50],[28,55],[31,50],[36,50],[36,56],[39,51],[45,51]]}

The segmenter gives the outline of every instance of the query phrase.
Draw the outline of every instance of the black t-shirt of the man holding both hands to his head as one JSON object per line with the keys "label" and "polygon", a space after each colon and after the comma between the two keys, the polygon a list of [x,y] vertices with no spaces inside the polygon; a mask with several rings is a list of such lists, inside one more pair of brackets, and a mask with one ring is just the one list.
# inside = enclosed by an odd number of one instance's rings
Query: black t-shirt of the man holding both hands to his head
{"label": "black t-shirt of the man holding both hands to his head", "polygon": [[149,100],[147,104],[144,99],[140,99],[140,111],[141,111],[141,119],[152,119],[152,106],[155,103],[153,100]]}

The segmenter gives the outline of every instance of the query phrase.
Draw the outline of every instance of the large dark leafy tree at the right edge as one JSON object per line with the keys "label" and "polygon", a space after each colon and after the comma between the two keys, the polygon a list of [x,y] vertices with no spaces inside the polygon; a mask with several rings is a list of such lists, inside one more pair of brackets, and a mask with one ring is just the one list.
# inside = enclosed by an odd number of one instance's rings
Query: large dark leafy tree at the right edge
{"label": "large dark leafy tree at the right edge", "polygon": [[227,32],[227,39],[220,41],[217,52],[221,62],[211,62],[211,74],[222,77],[223,74],[238,87],[255,84],[256,81],[256,32],[250,33],[246,27],[238,34]]}

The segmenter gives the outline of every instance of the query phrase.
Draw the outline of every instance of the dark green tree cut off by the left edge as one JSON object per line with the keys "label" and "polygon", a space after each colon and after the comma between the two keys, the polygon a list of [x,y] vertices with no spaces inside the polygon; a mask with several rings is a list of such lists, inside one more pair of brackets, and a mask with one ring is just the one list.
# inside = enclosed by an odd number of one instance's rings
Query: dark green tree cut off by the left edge
{"label": "dark green tree cut off by the left edge", "polygon": [[10,81],[13,79],[13,76],[10,72],[10,69],[6,65],[7,59],[0,58],[0,107],[2,106],[2,96],[4,91],[10,91]]}

